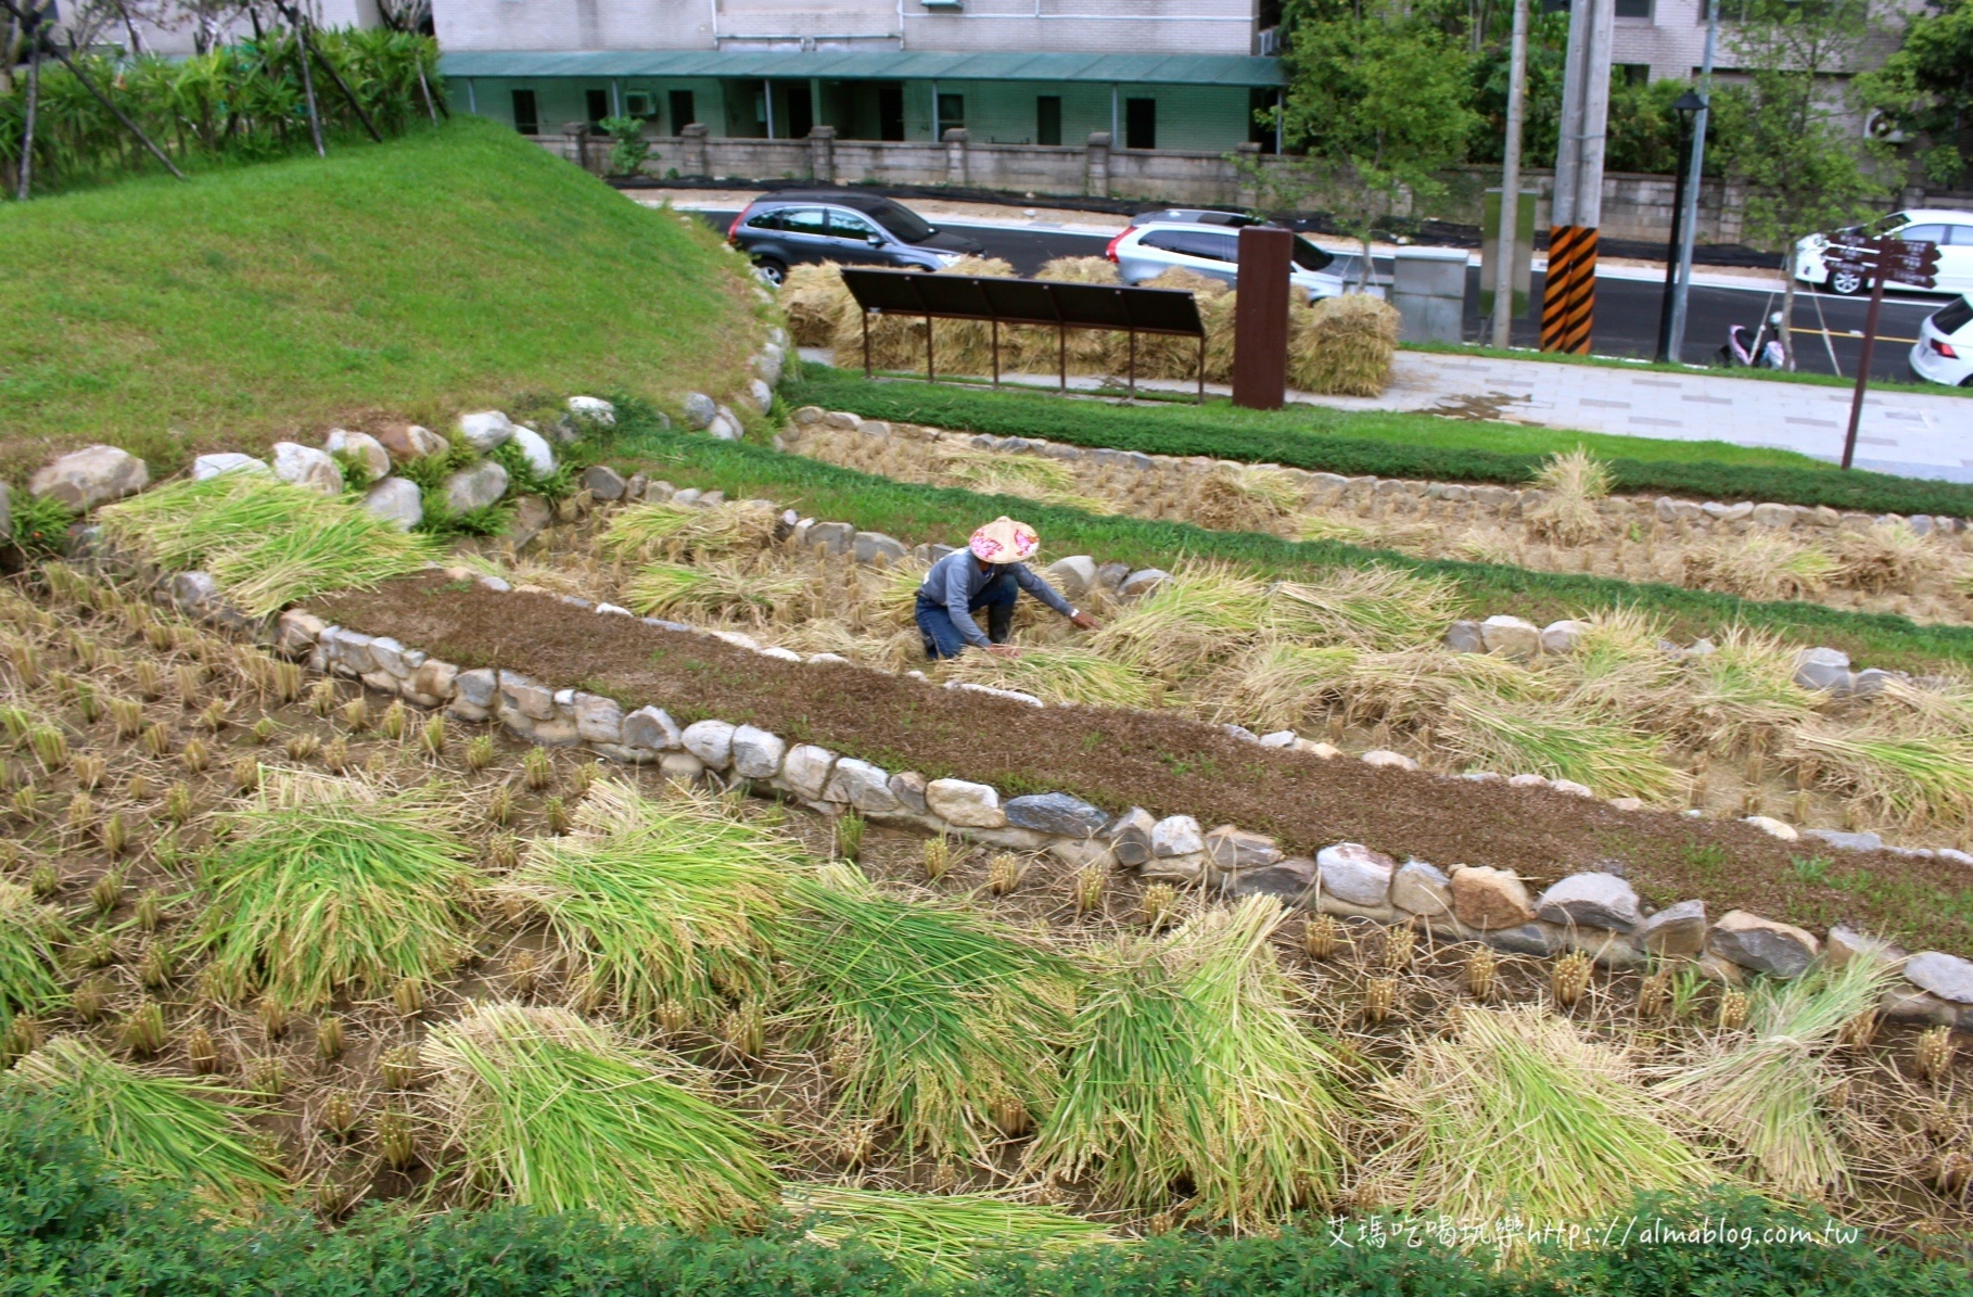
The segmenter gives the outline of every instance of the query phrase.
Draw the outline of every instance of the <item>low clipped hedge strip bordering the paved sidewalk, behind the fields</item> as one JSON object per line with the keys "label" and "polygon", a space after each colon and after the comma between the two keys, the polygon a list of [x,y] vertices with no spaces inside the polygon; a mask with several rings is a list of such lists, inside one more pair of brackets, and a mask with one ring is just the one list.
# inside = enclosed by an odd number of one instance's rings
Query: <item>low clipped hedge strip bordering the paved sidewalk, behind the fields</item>
{"label": "low clipped hedge strip bordering the paved sidewalk, behind the fields", "polygon": [[[1350,436],[1355,415],[1296,409],[1255,419],[1227,407],[1103,405],[1032,391],[981,391],[959,385],[868,381],[842,369],[809,365],[783,387],[795,405],[846,409],[996,436],[1046,436],[1071,446],[1111,446],[1144,454],[1209,454],[1249,464],[1288,464],[1314,472],[1434,482],[1525,484],[1539,454],[1448,448]],[[1699,454],[1699,448],[1695,448]],[[1894,478],[1835,468],[1722,464],[1717,460],[1610,460],[1616,490],[1636,496],[1752,499],[1829,505],[1864,513],[1934,513],[1973,517],[1973,484]]]}

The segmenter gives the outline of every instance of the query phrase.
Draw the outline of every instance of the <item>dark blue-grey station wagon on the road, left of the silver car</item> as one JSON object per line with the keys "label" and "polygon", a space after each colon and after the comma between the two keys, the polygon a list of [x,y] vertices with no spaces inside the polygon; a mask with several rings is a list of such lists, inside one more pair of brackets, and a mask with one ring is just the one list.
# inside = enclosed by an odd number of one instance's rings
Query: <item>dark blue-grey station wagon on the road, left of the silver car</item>
{"label": "dark blue-grey station wagon on the road, left of the silver car", "polygon": [[781,191],[756,197],[734,217],[726,241],[754,259],[775,288],[787,267],[805,261],[943,270],[986,249],[927,223],[888,197],[840,190]]}

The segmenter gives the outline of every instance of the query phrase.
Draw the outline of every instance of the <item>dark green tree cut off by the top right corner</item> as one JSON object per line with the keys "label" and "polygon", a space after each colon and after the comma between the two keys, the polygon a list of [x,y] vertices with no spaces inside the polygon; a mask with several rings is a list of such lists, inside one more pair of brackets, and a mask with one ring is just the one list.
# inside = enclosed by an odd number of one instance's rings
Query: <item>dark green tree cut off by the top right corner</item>
{"label": "dark green tree cut off by the top right corner", "polygon": [[1926,180],[1955,186],[1973,152],[1973,0],[1934,0],[1882,67],[1857,77],[1864,103],[1922,136]]}

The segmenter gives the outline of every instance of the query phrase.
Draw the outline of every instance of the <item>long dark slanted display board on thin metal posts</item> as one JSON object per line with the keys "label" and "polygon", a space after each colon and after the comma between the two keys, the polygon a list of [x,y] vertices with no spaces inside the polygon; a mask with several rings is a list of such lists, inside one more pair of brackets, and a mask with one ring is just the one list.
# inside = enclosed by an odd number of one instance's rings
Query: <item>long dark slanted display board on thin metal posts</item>
{"label": "long dark slanted display board on thin metal posts", "polygon": [[864,270],[842,267],[842,284],[862,308],[864,377],[870,377],[870,316],[925,318],[925,381],[937,381],[931,345],[933,320],[985,320],[992,326],[992,385],[1000,387],[1000,326],[1024,324],[1056,330],[1061,391],[1069,389],[1069,330],[1105,330],[1131,336],[1131,395],[1136,395],[1136,336],[1198,338],[1200,389],[1206,403],[1206,322],[1198,300],[1182,288],[1125,288],[1121,284],[1058,284],[1040,278],[986,274],[923,274],[919,270]]}

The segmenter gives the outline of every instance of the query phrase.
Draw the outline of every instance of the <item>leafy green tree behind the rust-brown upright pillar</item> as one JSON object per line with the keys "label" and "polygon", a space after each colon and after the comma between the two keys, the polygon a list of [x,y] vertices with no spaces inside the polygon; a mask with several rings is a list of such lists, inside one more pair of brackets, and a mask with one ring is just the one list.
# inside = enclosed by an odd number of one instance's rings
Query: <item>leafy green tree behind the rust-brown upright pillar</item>
{"label": "leafy green tree behind the rust-brown upright pillar", "polygon": [[[1399,0],[1292,0],[1282,134],[1306,160],[1280,168],[1271,188],[1342,195],[1340,225],[1363,243],[1403,201],[1444,191],[1438,172],[1466,156],[1470,57],[1458,36]],[[1284,203],[1296,205],[1296,203]]]}

